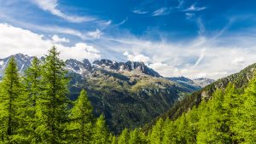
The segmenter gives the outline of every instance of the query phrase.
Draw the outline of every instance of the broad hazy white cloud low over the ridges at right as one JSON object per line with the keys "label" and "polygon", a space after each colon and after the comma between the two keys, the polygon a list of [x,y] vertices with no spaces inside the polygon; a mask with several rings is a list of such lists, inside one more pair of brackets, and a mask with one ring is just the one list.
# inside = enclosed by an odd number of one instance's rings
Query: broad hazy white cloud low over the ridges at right
{"label": "broad hazy white cloud low over the ridges at right", "polygon": [[136,54],[147,55],[149,66],[165,77],[217,79],[256,62],[256,42],[253,40],[256,36],[239,33],[220,37],[221,33],[223,31],[213,37],[200,36],[178,43],[165,39],[155,42],[137,37],[113,38],[103,42],[102,49],[109,49],[115,55],[123,51],[125,58],[130,57],[130,60]]}

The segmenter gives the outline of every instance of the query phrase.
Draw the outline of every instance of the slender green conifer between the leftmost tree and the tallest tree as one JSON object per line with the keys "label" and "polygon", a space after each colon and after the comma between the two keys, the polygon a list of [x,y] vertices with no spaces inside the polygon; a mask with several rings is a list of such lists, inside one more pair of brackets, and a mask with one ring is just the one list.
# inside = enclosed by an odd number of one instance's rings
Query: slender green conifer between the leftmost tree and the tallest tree
{"label": "slender green conifer between the leftmost tree and the tallest tree", "polygon": [[19,108],[20,117],[24,119],[23,127],[20,128],[20,135],[26,136],[26,141],[38,143],[37,134],[38,127],[37,100],[41,95],[41,65],[40,60],[35,57],[32,60],[32,66],[28,67],[24,74],[23,84],[25,85],[25,95],[23,106]]}

